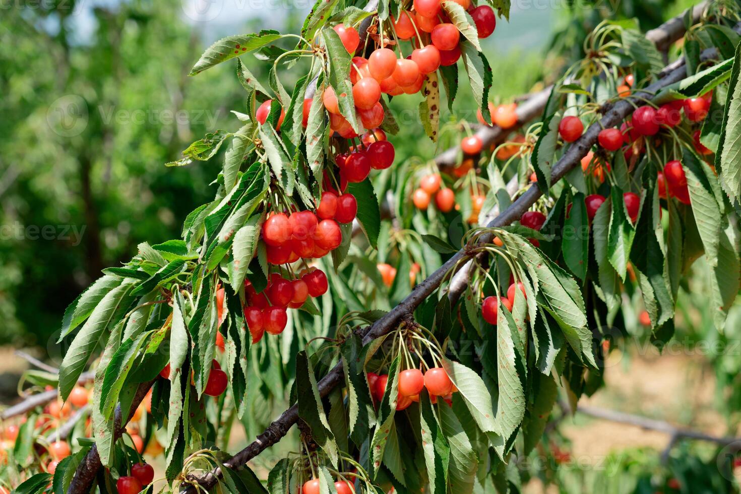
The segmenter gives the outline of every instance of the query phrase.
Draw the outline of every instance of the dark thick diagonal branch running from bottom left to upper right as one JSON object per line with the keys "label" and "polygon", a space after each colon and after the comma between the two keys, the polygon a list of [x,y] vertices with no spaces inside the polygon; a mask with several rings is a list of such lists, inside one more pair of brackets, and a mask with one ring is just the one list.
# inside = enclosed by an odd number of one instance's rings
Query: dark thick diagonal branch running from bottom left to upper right
{"label": "dark thick diagonal branch running from bottom left to upper right", "polygon": [[[705,58],[709,58],[713,56],[714,53],[714,49],[710,49],[706,50],[703,55],[705,56]],[[559,181],[561,178],[563,178],[563,176],[566,175],[566,173],[574,169],[574,167],[579,166],[581,159],[586,156],[590,148],[597,142],[597,134],[600,130],[602,130],[602,128],[614,127],[621,121],[623,121],[625,117],[628,116],[628,114],[632,113],[632,111],[634,110],[634,106],[633,103],[628,100],[635,100],[640,104],[641,101],[643,101],[644,99],[651,99],[663,87],[666,87],[669,84],[674,84],[675,82],[684,79],[687,76],[687,70],[684,66],[684,61],[680,60],[675,64],[672,64],[671,66],[667,67],[667,70],[665,70],[662,74],[663,77],[659,81],[651,84],[644,90],[636,91],[630,98],[623,99],[614,104],[614,107],[612,107],[611,110],[605,113],[605,116],[602,117],[599,123],[592,124],[585,131],[581,138],[571,144],[571,146],[568,147],[563,156],[551,170],[551,181],[553,181],[554,183],[556,181]],[[542,99],[543,97],[545,97],[545,99],[547,99],[548,97],[545,90],[542,93],[538,93],[538,95],[536,96],[539,97],[539,99],[536,101],[541,101],[540,99]],[[538,106],[536,104],[536,101],[532,102],[533,107]],[[543,102],[543,104],[545,104],[545,101]],[[525,106],[525,104],[521,104],[520,106]],[[534,110],[528,109],[528,111]],[[484,127],[480,129],[479,132],[486,133],[486,135],[488,136],[488,141],[485,141],[485,143],[488,142],[491,144],[492,142],[494,142],[496,136],[500,135],[502,130],[499,130],[498,127]],[[453,153],[457,153],[457,150],[446,151],[445,153],[443,153],[445,157],[442,159],[454,160],[455,157],[453,156]],[[540,196],[542,196],[542,192],[537,187],[537,184],[533,184],[528,190],[525,191],[525,193],[519,196],[519,198],[517,198],[510,207],[508,207],[501,214],[496,216],[496,218],[490,221],[487,226],[490,228],[503,227],[511,224],[514,221],[519,220],[520,216],[522,216],[522,213],[525,213],[525,211],[527,211],[533,204],[535,204],[535,201],[537,201]],[[481,236],[481,241],[489,242],[492,240],[492,238],[493,234],[487,233]],[[442,265],[442,267],[432,273],[427,279],[425,279],[425,281],[422,281],[422,283],[414,287],[412,293],[407,296],[407,298],[396,305],[396,307],[393,307],[393,309],[385,316],[379,318],[376,322],[374,322],[373,325],[366,331],[363,338],[363,344],[368,344],[373,339],[379,338],[389,333],[393,329],[393,327],[396,327],[396,325],[399,324],[399,321],[403,317],[413,313],[416,307],[418,307],[419,304],[422,304],[422,301],[425,301],[428,296],[430,296],[435,290],[440,287],[443,280],[448,275],[448,272],[453,269],[453,267],[455,267],[456,264],[459,263],[459,261],[466,261],[470,258],[470,250],[463,249],[456,253],[453,257],[448,259],[448,261],[446,261],[445,264]],[[460,293],[457,293],[457,295],[455,295],[456,299],[459,295]],[[450,296],[451,298],[453,298],[454,294],[451,292]],[[322,395],[322,397],[328,395],[330,391],[333,390],[333,388],[337,384],[341,383],[343,380],[344,376],[342,373],[342,365],[337,364],[335,367],[333,367],[332,370],[330,370],[327,375],[325,375],[324,378],[322,378],[321,381],[319,381],[319,394]],[[264,433],[259,435],[252,444],[249,444],[247,447],[245,447],[244,450],[234,455],[233,458],[230,458],[230,460],[225,461],[225,467],[230,469],[237,469],[247,464],[247,461],[250,461],[250,459],[254,458],[256,455],[259,455],[259,453],[262,453],[262,451],[266,448],[272,446],[273,444],[276,444],[276,442],[278,442],[283,436],[285,436],[288,433],[290,427],[292,427],[293,424],[296,423],[296,420],[298,418],[298,406],[293,405],[293,407],[290,407],[288,410],[282,413],[279,418],[273,421],[273,423],[268,426],[268,429],[265,430]],[[222,471],[220,468],[217,467],[210,472],[205,473],[202,478],[199,478],[196,481],[198,487],[193,484],[187,486],[184,485],[181,494],[195,494],[199,489],[210,490],[210,488],[212,488],[221,477]]]}

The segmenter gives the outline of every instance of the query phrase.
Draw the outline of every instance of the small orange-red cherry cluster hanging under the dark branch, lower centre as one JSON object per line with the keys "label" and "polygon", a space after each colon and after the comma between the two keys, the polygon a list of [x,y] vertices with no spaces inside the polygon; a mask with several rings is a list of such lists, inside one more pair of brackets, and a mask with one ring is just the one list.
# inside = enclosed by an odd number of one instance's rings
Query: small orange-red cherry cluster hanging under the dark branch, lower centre
{"label": "small orange-red cherry cluster hanging under the dark branch, lower centre", "polygon": [[[368,373],[368,387],[375,401],[383,400],[387,384],[388,374]],[[451,395],[457,391],[453,381],[442,367],[432,367],[424,374],[419,369],[402,370],[399,373],[398,386],[396,387],[398,393],[396,410],[406,410],[413,401],[419,401],[419,393],[422,393],[425,388],[430,393],[430,401],[433,404],[437,403],[438,397],[443,398],[450,404]]]}

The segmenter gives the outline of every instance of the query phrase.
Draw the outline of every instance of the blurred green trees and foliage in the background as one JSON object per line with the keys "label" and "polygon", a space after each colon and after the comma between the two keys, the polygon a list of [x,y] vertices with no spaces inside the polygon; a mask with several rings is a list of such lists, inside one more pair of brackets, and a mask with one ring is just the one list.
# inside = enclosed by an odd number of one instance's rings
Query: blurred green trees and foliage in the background
{"label": "blurred green trees and foliage in the background", "polygon": [[[188,70],[221,36],[265,27],[298,31],[310,7],[285,1],[277,10],[250,10],[248,1],[225,1],[219,19],[207,21],[193,19],[184,7],[188,3],[17,0],[2,7],[0,345],[40,347],[45,354],[56,340],[53,333],[64,308],[102,267],[130,258],[141,241],[179,237],[187,213],[213,197],[210,182],[222,157],[175,169],[164,164],[207,132],[235,129],[239,124],[230,110],[245,108],[245,93],[229,66],[197,78],[187,77]],[[582,57],[584,36],[602,19],[636,18],[648,30],[690,5],[688,0],[513,2],[511,21],[500,19],[494,36],[483,43],[495,67],[491,99],[512,101],[556,79],[563,67]],[[267,80],[267,64],[251,56],[245,64]],[[283,80],[290,86],[290,75]],[[453,113],[445,108],[442,114],[450,140],[444,136],[436,145],[417,124],[420,96],[394,99],[393,113],[402,122],[393,138],[397,161],[432,158],[459,139],[462,119],[476,120],[473,97],[463,86]],[[403,124],[404,119],[415,124]],[[702,261],[697,263],[681,291],[675,341],[683,355],[699,356],[691,360],[700,368],[695,386],[702,387],[708,374],[716,381],[710,400],[715,413],[705,419],[717,433],[726,433],[736,430],[741,410],[741,348],[732,347],[741,337],[741,307],[737,301],[725,334],[718,334],[705,313],[707,273]],[[650,335],[637,322],[639,296],[625,297],[625,328],[619,330],[638,336],[645,350],[651,347]],[[639,357],[650,353],[640,349]],[[621,350],[619,366],[625,367],[637,352]],[[608,379],[608,390],[611,384]],[[632,411],[646,415],[660,415],[673,403],[672,397],[654,403],[634,398],[637,410]],[[606,399],[625,404],[619,392]],[[247,437],[272,418],[270,408],[264,410],[245,424]],[[669,415],[661,418],[679,423],[697,418],[691,407]],[[717,416],[724,423],[718,424]],[[565,438],[562,447],[569,447],[569,441]],[[710,453],[698,456],[694,448],[679,449],[680,459],[672,459],[679,464],[669,469],[657,463],[654,450],[626,450],[615,461],[628,480],[618,475],[612,480],[620,485],[609,488],[604,475],[597,472],[602,480],[595,479],[590,469],[564,469],[554,474],[557,478],[540,470],[534,476],[556,480],[560,492],[654,492],[656,475],[659,484],[685,470],[717,475],[717,452],[701,444],[700,453]],[[671,486],[666,492],[672,492]]]}

